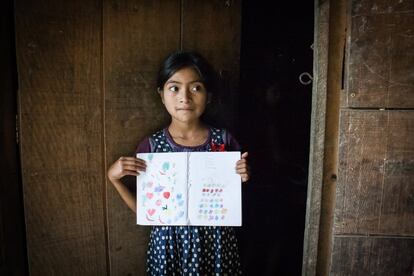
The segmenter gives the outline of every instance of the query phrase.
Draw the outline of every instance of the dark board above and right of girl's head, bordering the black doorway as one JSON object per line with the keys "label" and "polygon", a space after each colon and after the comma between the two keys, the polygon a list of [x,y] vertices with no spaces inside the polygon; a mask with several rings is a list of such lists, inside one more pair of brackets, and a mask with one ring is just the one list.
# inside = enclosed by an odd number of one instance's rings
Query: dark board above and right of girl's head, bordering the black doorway
{"label": "dark board above and right of girl's head, bordering the black doorway", "polygon": [[220,74],[222,88],[208,111],[231,128],[238,103],[240,35],[240,0],[183,0],[182,48],[202,54]]}

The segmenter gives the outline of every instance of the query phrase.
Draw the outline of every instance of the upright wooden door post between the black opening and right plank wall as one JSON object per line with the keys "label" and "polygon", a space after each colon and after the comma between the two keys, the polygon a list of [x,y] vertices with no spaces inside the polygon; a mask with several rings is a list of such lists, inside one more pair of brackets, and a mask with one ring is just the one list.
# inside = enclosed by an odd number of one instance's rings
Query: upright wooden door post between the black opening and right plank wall
{"label": "upright wooden door post between the black opening and right plank wall", "polygon": [[315,0],[312,113],[302,275],[328,275],[338,175],[346,0]]}

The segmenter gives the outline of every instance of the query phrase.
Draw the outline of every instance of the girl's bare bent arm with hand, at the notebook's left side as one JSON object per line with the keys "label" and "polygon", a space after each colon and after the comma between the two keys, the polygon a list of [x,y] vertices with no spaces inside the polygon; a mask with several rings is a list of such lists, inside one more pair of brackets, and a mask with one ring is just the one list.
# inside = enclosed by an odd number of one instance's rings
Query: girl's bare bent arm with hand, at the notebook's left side
{"label": "girl's bare bent arm with hand, at the notebook's left side", "polygon": [[140,171],[145,171],[145,161],[135,157],[121,157],[108,170],[108,178],[118,191],[121,198],[128,207],[137,212],[135,196],[122,183],[121,178],[125,175],[139,175]]}

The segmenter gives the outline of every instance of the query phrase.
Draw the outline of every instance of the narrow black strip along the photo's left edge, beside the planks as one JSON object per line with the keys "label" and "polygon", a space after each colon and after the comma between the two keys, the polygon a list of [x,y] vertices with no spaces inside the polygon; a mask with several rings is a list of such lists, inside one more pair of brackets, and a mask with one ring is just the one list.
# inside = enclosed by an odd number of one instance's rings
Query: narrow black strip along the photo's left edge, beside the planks
{"label": "narrow black strip along the photo's left edge, beside the planks", "polygon": [[19,137],[16,135],[17,68],[13,1],[5,1],[0,24],[0,275],[26,275]]}

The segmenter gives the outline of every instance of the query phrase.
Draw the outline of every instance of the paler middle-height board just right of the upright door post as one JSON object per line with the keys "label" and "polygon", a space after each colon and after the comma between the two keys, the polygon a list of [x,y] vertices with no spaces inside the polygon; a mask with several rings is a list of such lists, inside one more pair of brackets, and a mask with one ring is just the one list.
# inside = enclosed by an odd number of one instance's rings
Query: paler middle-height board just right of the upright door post
{"label": "paler middle-height board just right of the upright door post", "polygon": [[378,230],[387,112],[341,112],[336,233]]}

